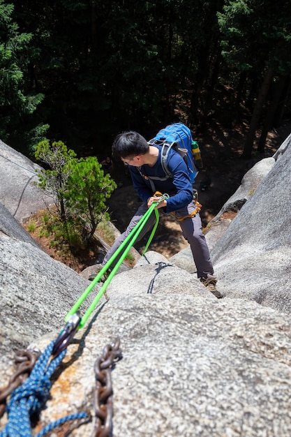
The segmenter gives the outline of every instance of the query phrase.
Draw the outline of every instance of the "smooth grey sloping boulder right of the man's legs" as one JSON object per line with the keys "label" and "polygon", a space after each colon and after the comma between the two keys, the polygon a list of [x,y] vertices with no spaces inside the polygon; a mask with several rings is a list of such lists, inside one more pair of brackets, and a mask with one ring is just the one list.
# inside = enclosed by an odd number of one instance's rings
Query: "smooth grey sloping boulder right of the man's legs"
{"label": "smooth grey sloping boulder right of the man's legs", "polygon": [[[291,312],[291,135],[282,153],[218,240],[211,258],[218,289]],[[286,146],[288,145],[288,147]]]}

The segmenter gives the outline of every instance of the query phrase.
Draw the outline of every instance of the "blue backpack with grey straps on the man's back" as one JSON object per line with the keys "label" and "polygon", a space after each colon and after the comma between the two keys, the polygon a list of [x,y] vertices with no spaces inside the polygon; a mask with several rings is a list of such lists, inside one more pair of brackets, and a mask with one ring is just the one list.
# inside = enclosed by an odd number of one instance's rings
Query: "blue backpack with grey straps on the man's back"
{"label": "blue backpack with grey straps on the man's back", "polygon": [[[167,168],[167,155],[170,149],[177,151],[188,168],[189,177],[191,182],[195,182],[197,176],[197,168],[195,166],[195,155],[197,151],[200,155],[200,150],[196,141],[193,141],[190,129],[183,123],[173,123],[158,131],[156,136],[149,140],[149,145],[162,146],[161,150],[161,165],[165,172],[165,177],[151,177],[151,179],[166,180],[172,177],[171,172]],[[201,156],[200,156],[201,159]]]}

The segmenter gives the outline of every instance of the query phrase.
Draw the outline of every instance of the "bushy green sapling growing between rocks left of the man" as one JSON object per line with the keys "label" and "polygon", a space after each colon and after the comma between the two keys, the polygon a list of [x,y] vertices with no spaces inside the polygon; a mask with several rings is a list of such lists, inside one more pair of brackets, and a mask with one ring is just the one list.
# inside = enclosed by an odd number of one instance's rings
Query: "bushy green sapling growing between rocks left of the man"
{"label": "bushy green sapling growing between rocks left of the man", "polygon": [[68,241],[73,242],[80,227],[83,237],[92,236],[98,223],[108,218],[106,199],[117,188],[110,175],[104,175],[97,158],[76,158],[75,151],[64,142],[40,142],[35,151],[38,161],[50,167],[38,171],[38,186],[55,198],[61,222],[59,226]]}

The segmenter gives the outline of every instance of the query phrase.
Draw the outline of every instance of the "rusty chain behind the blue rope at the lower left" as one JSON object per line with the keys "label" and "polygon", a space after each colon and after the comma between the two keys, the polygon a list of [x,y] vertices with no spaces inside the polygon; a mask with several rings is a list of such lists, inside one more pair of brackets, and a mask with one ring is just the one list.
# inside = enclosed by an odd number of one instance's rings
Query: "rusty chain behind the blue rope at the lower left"
{"label": "rusty chain behind the blue rope at the lower left", "polygon": [[27,349],[15,353],[14,362],[17,370],[10,377],[8,385],[0,389],[0,418],[5,412],[7,397],[29,377],[39,357],[40,350]]}

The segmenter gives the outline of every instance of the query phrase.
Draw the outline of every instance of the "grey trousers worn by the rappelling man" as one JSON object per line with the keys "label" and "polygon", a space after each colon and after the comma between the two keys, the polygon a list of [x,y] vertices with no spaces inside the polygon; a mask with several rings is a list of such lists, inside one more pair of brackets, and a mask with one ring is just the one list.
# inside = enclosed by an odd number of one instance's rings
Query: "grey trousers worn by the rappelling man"
{"label": "grey trousers worn by the rappelling man", "polygon": [[[135,225],[140,221],[140,218],[147,212],[147,204],[144,202],[142,205],[140,205],[140,208],[137,209],[137,212],[131,219],[128,227],[126,230],[119,235],[117,240],[112,245],[110,251],[107,252],[105,255],[105,258],[103,260],[103,265],[111,258],[113,253],[117,251],[119,246],[122,242],[126,239],[128,234],[130,233],[133,228],[135,228]],[[187,207],[184,207],[182,209],[179,209],[178,211],[174,212],[174,215],[179,217],[185,217],[188,216],[188,214],[191,214],[195,210],[195,202],[191,202]],[[158,209],[158,212],[160,214],[163,214],[161,212],[161,209]],[[156,222],[156,216],[154,212],[149,216],[149,219],[144,225],[144,228],[142,228],[142,231],[140,232],[140,235],[137,237],[136,241],[139,241],[144,237],[144,235],[149,232],[154,226],[154,223]],[[214,269],[210,260],[209,255],[209,249],[207,246],[206,239],[202,233],[202,223],[199,213],[197,213],[194,217],[188,217],[185,218],[183,221],[178,222],[181,226],[181,230],[183,232],[184,238],[188,241],[191,247],[191,251],[193,254],[193,260],[195,262],[196,268],[197,268],[197,277],[201,278],[202,276],[207,276],[207,274],[214,274]],[[116,265],[119,257],[117,257],[114,262],[112,262],[112,265],[110,266],[110,269]]]}

